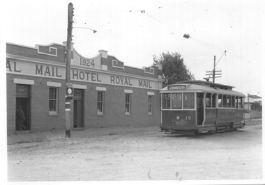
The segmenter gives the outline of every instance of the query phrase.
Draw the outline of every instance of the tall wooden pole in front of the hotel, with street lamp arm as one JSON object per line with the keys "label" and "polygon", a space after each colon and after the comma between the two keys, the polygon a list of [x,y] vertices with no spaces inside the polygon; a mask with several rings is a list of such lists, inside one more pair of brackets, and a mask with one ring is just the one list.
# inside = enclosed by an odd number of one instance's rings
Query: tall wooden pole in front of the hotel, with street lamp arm
{"label": "tall wooden pole in front of the hotel, with street lamp arm", "polygon": [[73,3],[68,4],[68,29],[66,44],[66,137],[70,138],[71,115],[70,99],[73,99],[73,83],[70,83],[70,67],[72,58],[72,29],[73,29]]}

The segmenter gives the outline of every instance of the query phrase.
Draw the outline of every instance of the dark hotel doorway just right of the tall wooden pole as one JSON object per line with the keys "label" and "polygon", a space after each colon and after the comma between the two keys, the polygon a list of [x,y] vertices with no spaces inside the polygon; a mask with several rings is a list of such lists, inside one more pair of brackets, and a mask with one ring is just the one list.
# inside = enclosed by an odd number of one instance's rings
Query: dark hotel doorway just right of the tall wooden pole
{"label": "dark hotel doorway just right of the tall wooden pole", "polygon": [[84,127],[83,90],[74,89],[74,128]]}

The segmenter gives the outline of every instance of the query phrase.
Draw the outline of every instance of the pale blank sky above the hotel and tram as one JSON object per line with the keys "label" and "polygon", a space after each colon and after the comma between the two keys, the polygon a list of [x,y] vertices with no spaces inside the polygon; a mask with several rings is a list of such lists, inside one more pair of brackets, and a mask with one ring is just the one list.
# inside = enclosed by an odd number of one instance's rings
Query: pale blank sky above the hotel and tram
{"label": "pale blank sky above the hotel and tram", "polygon": [[82,56],[104,49],[125,65],[142,68],[153,65],[153,56],[176,52],[196,80],[209,77],[215,56],[215,70],[222,71],[215,83],[262,97],[264,0],[8,0],[1,41],[62,44],[70,2],[74,48]]}

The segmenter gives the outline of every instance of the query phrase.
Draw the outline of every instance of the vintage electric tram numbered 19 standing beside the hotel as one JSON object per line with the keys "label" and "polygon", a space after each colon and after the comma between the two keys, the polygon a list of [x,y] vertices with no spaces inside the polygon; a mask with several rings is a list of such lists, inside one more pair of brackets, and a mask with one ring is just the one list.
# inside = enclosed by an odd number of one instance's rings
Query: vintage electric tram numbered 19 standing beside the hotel
{"label": "vintage electric tram numbered 19 standing beside the hotel", "polygon": [[243,128],[245,95],[232,88],[209,81],[181,81],[162,88],[161,131],[197,134]]}

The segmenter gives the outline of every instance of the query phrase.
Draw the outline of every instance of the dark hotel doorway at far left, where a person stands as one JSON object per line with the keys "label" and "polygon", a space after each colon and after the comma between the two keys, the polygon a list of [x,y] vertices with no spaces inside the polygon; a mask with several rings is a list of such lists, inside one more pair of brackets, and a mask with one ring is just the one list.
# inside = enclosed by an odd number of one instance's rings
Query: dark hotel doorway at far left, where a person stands
{"label": "dark hotel doorway at far left, where a person stands", "polygon": [[[24,115],[26,118],[26,120],[24,120],[24,122],[22,123],[25,127],[23,130],[30,130],[31,124],[30,124],[30,106],[29,106],[29,86],[27,85],[17,84],[16,108],[18,108],[19,106],[21,106],[21,109],[24,112]],[[16,131],[20,130],[20,127],[18,124],[19,124],[19,120],[16,116],[15,118],[15,130]]]}

